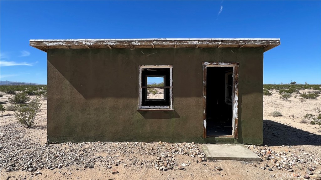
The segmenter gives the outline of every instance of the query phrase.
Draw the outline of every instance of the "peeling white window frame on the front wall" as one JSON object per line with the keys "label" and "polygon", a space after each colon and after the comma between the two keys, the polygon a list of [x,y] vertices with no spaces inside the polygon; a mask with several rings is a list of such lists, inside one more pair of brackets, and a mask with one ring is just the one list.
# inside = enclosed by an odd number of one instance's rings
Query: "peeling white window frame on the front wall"
{"label": "peeling white window frame on the front wall", "polygon": [[[142,70],[143,69],[160,69],[160,68],[169,68],[169,81],[170,81],[170,87],[169,87],[169,106],[142,106],[143,97],[142,97]],[[173,98],[172,98],[172,87],[173,87],[173,80],[172,80],[172,65],[153,65],[153,66],[139,66],[139,107],[138,110],[173,110]]]}

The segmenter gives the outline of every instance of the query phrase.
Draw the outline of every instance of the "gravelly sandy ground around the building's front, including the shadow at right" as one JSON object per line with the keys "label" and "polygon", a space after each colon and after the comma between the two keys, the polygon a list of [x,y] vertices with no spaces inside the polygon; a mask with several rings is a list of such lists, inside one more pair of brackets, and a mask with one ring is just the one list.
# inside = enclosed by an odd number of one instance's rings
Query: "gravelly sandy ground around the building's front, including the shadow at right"
{"label": "gravelly sandy ground around the building's front, including the shadow at right", "polygon": [[321,179],[321,136],[273,120],[265,146],[245,145],[261,162],[210,161],[195,143],[48,144],[46,111],[42,101],[31,128],[1,113],[0,179]]}

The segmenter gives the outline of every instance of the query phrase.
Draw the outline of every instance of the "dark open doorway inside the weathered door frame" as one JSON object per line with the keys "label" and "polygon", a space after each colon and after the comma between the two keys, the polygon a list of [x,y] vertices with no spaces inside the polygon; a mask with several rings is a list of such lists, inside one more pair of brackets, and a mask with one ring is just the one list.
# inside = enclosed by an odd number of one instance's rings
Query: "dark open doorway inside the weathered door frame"
{"label": "dark open doorway inside the weathered door frame", "polygon": [[232,135],[233,67],[207,67],[206,136]]}

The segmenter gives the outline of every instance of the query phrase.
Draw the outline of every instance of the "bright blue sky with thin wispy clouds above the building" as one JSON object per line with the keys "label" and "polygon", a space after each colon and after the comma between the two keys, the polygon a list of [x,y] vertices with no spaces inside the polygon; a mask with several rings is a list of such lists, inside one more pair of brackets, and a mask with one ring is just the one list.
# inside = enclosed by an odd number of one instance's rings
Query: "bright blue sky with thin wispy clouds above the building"
{"label": "bright blue sky with thin wispy clouds above the building", "polygon": [[1,80],[47,83],[30,39],[281,38],[264,83],[321,83],[321,1],[0,1]]}

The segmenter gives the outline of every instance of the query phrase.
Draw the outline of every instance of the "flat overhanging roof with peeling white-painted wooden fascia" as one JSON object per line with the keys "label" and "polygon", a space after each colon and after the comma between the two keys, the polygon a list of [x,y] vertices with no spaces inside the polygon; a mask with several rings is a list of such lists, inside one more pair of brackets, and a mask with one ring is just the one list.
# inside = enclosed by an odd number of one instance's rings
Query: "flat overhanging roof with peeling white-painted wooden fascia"
{"label": "flat overhanging roof with peeling white-painted wooden fascia", "polygon": [[30,39],[30,46],[48,49],[99,48],[246,48],[262,47],[264,52],[280,45],[278,38],[154,38],[154,39]]}

